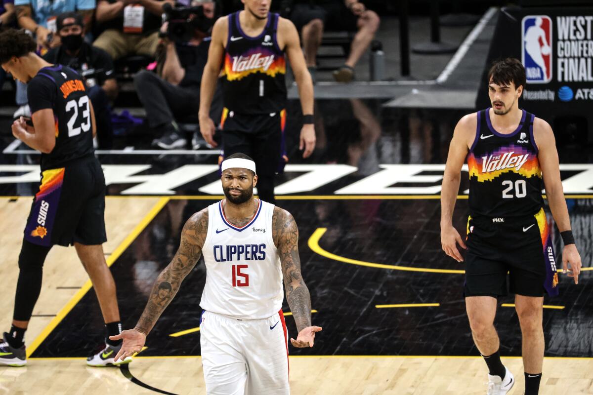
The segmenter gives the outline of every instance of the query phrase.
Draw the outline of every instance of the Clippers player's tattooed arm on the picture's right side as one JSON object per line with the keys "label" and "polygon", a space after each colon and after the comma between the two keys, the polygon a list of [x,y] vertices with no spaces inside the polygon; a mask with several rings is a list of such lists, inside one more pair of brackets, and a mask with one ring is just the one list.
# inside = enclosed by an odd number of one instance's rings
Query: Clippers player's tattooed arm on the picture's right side
{"label": "Clippers player's tattooed arm on the picture's right side", "polygon": [[279,207],[274,208],[272,235],[282,265],[286,301],[301,332],[311,326],[311,296],[301,275],[297,223],[288,211]]}

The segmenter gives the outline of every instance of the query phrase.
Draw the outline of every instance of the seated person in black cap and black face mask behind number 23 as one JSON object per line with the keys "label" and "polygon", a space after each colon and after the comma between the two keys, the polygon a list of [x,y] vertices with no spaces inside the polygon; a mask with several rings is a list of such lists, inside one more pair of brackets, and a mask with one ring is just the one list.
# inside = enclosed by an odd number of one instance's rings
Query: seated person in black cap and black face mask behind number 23
{"label": "seated person in black cap and black face mask behind number 23", "polygon": [[117,97],[113,61],[107,52],[84,41],[82,24],[82,16],[76,12],[58,15],[56,28],[62,44],[49,50],[43,59],[68,66],[82,76],[95,111],[99,147],[110,149],[113,131],[109,101]]}

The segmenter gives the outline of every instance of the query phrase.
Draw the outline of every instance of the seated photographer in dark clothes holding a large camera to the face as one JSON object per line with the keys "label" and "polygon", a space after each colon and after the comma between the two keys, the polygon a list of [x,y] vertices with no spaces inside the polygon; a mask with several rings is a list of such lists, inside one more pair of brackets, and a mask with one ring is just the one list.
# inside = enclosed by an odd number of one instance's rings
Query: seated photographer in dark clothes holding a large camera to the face
{"label": "seated photographer in dark clothes holding a large camera to the face", "polygon": [[192,8],[164,7],[164,64],[159,74],[144,70],[134,78],[148,125],[161,136],[152,144],[162,149],[186,146],[175,120],[195,115],[199,110],[200,82],[208,60],[215,4],[194,0],[191,5]]}

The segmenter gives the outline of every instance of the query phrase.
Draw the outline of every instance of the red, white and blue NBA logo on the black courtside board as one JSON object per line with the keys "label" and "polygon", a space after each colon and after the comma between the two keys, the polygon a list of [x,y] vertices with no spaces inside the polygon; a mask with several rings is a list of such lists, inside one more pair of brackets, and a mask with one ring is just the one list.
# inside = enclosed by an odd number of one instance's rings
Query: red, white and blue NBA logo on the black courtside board
{"label": "red, white and blue NBA logo on the black courtside board", "polygon": [[528,15],[521,21],[521,60],[528,84],[547,84],[552,79],[552,20]]}

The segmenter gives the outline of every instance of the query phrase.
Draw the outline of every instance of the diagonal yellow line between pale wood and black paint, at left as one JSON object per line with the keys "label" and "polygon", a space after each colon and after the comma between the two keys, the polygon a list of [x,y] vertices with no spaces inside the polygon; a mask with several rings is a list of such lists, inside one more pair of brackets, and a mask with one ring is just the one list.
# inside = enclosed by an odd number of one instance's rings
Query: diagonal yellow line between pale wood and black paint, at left
{"label": "diagonal yellow line between pale wood and black paint, at left", "polygon": [[[161,211],[161,209],[169,201],[168,197],[160,198],[157,203],[146,213],[142,220],[136,224],[132,229],[132,232],[126,236],[125,239],[113,250],[109,258],[107,259],[107,266],[110,267],[119,258],[120,255],[132,244],[132,242],[138,237],[138,235],[145,229],[145,227],[154,219],[155,216]],[[68,313],[76,306],[76,304],[82,299],[83,296],[93,287],[91,280],[80,287],[80,289],[72,296],[72,298],[66,303],[64,307],[56,314],[56,316],[47,324],[37,338],[27,347],[27,358],[30,357],[33,352],[41,345],[41,343],[52,333],[52,330],[68,315]]]}

